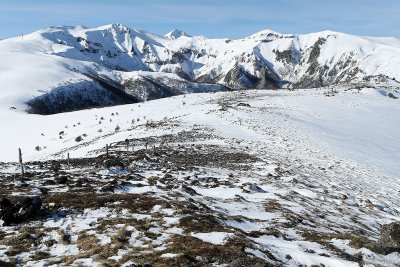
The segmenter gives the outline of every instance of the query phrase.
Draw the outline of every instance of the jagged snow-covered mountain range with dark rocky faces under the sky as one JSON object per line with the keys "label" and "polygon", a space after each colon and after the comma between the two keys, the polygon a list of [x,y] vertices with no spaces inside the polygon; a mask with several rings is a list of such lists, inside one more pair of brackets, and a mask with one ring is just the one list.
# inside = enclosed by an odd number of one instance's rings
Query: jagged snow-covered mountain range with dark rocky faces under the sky
{"label": "jagged snow-covered mountain range with dark rocky faces under the sky", "polygon": [[44,114],[229,88],[400,85],[400,39],[331,31],[230,40],[51,27],[0,41],[0,57],[1,108]]}

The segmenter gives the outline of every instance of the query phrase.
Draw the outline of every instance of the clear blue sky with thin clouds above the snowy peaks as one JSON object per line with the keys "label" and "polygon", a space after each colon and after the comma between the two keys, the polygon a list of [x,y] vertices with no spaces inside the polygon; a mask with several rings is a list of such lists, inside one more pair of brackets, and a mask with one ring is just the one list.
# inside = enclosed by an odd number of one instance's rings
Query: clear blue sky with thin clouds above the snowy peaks
{"label": "clear blue sky with thin clouds above the snowy peaks", "polygon": [[122,23],[240,38],[263,29],[400,37],[399,0],[2,0],[0,38],[49,26]]}

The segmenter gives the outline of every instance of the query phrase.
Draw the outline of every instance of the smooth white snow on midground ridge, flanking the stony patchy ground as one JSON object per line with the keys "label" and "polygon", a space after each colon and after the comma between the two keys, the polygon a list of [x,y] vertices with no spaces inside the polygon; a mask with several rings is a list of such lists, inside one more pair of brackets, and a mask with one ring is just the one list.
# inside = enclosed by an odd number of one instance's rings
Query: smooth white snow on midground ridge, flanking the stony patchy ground
{"label": "smooth white snow on midground ridge, flanking the stony patchy ground", "polygon": [[[385,172],[400,175],[398,167],[400,129],[399,119],[395,115],[399,112],[399,102],[385,96],[382,91],[364,89],[358,93],[357,90],[350,90],[332,97],[325,96],[330,92],[328,89],[297,92],[285,90],[280,93],[252,91],[255,100],[249,104],[252,107],[265,108],[265,115],[260,117],[258,113],[251,112],[245,114],[233,112],[233,115],[237,120],[249,119],[251,125],[260,126],[282,120],[276,124],[281,138],[294,131],[295,127],[300,127],[299,133],[289,135],[287,138],[311,140],[318,146],[327,146],[329,151],[356,160],[360,164],[373,165]],[[1,121],[6,122],[6,126],[5,130],[1,131],[1,140],[15,140],[15,142],[6,142],[2,146],[0,161],[16,160],[17,147],[23,149],[26,160],[49,159],[64,149],[74,151],[71,154],[79,157],[91,155],[91,150],[102,148],[105,143],[132,136],[131,131],[125,130],[133,126],[138,128],[135,135],[146,135],[150,133],[141,132],[141,125],[148,121],[175,117],[182,120],[183,125],[188,125],[183,127],[204,124],[216,127],[229,138],[266,139],[265,133],[261,130],[261,132],[249,131],[250,126],[230,126],[223,121],[229,116],[221,121],[221,118],[208,115],[208,112],[216,107],[207,102],[224,99],[229,97],[229,94],[173,97],[135,105],[51,116],[30,115],[14,110],[2,112]],[[122,130],[115,132],[117,126]],[[64,132],[62,139],[59,137],[60,132]],[[89,142],[90,146],[75,147],[78,145],[75,138],[83,134],[87,135],[84,141]],[[293,145],[296,145],[296,142],[293,142]],[[38,152],[35,150],[36,146],[46,149]]]}

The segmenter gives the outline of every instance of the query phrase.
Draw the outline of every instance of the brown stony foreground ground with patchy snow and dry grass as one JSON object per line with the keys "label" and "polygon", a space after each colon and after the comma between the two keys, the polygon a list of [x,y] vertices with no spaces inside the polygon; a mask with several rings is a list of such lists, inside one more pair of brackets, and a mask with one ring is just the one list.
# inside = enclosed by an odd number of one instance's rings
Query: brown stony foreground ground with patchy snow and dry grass
{"label": "brown stony foreground ground with patchy snow and dry grass", "polygon": [[243,138],[174,118],[140,127],[181,130],[114,142],[108,157],[28,162],[25,177],[1,164],[0,196],[44,208],[0,228],[0,265],[399,266],[378,242],[399,218],[397,186],[374,190],[384,174],[261,123],[254,98],[211,100]]}

